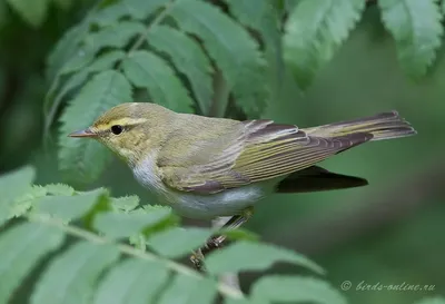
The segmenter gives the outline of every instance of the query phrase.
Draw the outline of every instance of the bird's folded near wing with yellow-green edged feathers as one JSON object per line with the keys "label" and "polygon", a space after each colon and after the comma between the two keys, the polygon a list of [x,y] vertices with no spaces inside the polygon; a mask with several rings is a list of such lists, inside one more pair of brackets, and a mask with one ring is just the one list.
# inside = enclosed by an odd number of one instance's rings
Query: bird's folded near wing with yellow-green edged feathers
{"label": "bird's folded near wing with yellow-green edged feathers", "polygon": [[[182,192],[218,193],[310,167],[373,137],[366,133],[332,138],[308,136],[296,126],[271,120],[243,124],[244,133],[229,137],[224,149],[212,149],[218,153],[212,153],[215,158],[206,164],[159,166],[164,183]],[[196,153],[207,155],[204,150]]]}

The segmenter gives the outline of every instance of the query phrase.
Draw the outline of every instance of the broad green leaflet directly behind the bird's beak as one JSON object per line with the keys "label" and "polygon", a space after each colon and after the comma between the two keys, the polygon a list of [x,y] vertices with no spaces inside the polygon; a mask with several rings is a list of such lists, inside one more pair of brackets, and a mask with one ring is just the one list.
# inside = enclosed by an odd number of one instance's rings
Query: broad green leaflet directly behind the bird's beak
{"label": "broad green leaflet directly behind the bird's beak", "polygon": [[96,179],[109,159],[105,146],[96,140],[68,138],[67,135],[85,129],[95,119],[122,102],[131,101],[131,86],[119,72],[107,70],[96,75],[71,100],[61,121],[59,164],[71,179],[88,183]]}

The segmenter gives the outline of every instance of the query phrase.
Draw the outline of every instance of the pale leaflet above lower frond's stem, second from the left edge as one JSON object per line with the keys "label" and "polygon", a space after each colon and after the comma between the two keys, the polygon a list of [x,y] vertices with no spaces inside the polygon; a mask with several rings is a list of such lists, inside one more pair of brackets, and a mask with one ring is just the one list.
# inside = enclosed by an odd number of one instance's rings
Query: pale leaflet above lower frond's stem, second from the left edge
{"label": "pale leaflet above lower frond's stem, second from the left edge", "polygon": [[108,192],[101,188],[75,196],[47,196],[34,203],[34,210],[72,220],[87,215],[102,199],[108,199]]}

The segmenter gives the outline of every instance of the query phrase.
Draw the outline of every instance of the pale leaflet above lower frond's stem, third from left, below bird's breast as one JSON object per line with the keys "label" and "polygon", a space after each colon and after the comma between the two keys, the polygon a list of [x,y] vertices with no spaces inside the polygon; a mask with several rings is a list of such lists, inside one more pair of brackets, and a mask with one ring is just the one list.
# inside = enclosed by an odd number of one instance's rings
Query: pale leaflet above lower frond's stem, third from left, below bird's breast
{"label": "pale leaflet above lower frond's stem, third from left, below bird's breast", "polygon": [[150,213],[103,213],[96,216],[93,226],[108,237],[129,237],[168,219],[171,212],[168,208]]}

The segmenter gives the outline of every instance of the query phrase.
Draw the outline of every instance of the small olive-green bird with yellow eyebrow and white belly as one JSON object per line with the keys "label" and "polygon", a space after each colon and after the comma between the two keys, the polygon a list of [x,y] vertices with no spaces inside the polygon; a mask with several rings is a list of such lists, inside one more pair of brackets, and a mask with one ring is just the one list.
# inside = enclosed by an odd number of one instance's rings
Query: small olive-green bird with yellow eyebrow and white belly
{"label": "small olive-green bird with yellow eyebrow and white belly", "polygon": [[177,114],[148,102],[119,105],[71,137],[99,140],[180,215],[235,216],[238,226],[268,193],[367,185],[316,163],[369,140],[416,131],[396,111],[299,129],[273,120],[238,121]]}

